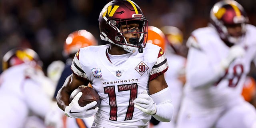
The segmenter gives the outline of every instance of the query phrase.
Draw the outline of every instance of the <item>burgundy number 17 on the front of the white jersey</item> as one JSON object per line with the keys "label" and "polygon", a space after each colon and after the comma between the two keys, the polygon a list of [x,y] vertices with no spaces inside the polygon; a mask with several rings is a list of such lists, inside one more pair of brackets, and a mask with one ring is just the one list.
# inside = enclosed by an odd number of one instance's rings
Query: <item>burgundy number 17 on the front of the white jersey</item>
{"label": "burgundy number 17 on the front of the white jersey", "polygon": [[[130,91],[129,105],[127,107],[127,112],[124,120],[132,120],[133,112],[134,112],[134,103],[133,100],[137,97],[138,92],[138,84],[122,84],[118,85],[118,92]],[[117,103],[116,103],[116,91],[115,86],[107,86],[104,87],[104,93],[108,94],[109,97],[109,105],[110,105],[110,117],[109,120],[116,121],[117,120]]]}

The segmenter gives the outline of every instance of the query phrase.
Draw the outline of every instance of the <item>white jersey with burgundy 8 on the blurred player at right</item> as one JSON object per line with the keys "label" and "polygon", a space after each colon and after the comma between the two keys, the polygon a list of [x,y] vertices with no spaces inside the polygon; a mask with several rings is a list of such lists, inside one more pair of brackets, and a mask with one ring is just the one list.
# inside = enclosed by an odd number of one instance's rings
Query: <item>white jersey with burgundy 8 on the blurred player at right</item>
{"label": "white jersey with burgundy 8 on the blurred player at right", "polygon": [[214,28],[199,28],[188,39],[190,50],[186,66],[186,96],[200,106],[215,108],[239,99],[250,63],[256,62],[256,27],[246,25],[246,34],[235,45],[242,46],[246,54],[236,58],[222,78],[213,79],[214,67],[228,56],[228,47]]}

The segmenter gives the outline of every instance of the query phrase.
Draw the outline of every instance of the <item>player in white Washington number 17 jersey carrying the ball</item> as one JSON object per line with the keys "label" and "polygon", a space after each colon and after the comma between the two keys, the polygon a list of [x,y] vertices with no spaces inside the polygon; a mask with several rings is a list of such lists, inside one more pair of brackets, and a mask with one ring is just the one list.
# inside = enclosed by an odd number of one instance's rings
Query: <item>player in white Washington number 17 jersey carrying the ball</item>
{"label": "player in white Washington number 17 jersey carrying the ball", "polygon": [[[93,128],[147,127],[153,116],[172,120],[173,105],[164,79],[168,62],[159,46],[147,44],[148,20],[131,0],[113,0],[99,16],[100,37],[107,45],[80,48],[72,62],[73,74],[58,91],[59,107],[72,118],[95,115]],[[71,92],[92,84],[99,93],[100,106],[78,105],[79,92],[69,102]]]}

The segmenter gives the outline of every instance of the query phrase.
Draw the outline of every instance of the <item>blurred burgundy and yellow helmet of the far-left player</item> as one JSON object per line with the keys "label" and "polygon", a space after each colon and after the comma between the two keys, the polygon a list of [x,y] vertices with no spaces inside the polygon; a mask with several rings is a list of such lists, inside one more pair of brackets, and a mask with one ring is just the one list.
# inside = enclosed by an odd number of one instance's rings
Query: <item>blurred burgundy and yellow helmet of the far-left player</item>
{"label": "blurred burgundy and yellow helmet of the far-left player", "polygon": [[42,68],[43,63],[38,54],[30,48],[14,48],[4,54],[2,60],[2,70],[6,70],[11,66],[18,64],[30,63],[34,66],[38,65]]}

